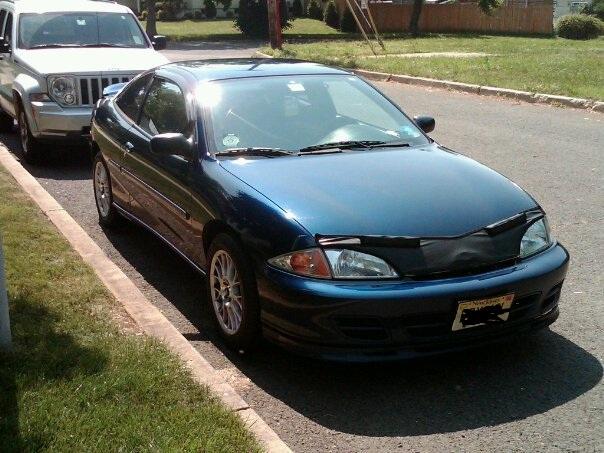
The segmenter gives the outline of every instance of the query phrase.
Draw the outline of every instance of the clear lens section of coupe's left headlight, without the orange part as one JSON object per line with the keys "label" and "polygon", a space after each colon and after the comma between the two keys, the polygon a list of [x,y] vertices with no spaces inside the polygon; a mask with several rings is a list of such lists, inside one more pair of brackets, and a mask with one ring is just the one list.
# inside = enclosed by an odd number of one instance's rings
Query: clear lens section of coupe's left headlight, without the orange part
{"label": "clear lens section of coupe's left headlight, without the orange part", "polygon": [[334,278],[396,278],[398,274],[383,259],[356,250],[326,250]]}

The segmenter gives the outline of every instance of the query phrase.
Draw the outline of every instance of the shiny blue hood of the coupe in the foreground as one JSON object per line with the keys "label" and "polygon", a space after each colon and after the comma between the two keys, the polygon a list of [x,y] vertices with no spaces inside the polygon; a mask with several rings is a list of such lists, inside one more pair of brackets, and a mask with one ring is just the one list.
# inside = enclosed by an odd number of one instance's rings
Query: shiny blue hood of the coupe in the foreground
{"label": "shiny blue hood of the coupe in the foreground", "polygon": [[221,165],[313,235],[460,236],[537,207],[504,176],[436,145]]}

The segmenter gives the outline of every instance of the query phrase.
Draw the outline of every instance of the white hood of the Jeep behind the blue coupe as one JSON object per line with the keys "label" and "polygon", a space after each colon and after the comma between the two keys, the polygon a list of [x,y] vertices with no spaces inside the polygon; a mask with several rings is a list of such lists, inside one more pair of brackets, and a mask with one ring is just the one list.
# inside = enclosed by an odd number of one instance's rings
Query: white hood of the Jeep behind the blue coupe
{"label": "white hood of the Jeep behind the blue coupe", "polygon": [[65,48],[20,50],[16,59],[40,74],[135,73],[160,66],[167,58],[153,49]]}

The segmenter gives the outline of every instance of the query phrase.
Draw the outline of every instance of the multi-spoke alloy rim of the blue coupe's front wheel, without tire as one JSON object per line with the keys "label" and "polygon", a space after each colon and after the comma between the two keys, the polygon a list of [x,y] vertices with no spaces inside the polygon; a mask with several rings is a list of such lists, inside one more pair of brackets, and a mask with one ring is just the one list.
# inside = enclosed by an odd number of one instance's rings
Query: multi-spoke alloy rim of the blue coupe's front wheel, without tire
{"label": "multi-spoke alloy rim of the blue coupe's front wheel, without tire", "polygon": [[210,292],[220,327],[230,335],[236,334],[243,320],[241,278],[235,261],[224,250],[218,250],[212,257]]}

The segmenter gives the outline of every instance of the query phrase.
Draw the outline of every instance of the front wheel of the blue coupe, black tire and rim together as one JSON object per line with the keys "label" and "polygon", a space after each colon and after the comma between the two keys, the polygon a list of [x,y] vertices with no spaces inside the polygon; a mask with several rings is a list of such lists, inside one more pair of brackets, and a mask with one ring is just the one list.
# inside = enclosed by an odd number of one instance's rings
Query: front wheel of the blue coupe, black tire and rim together
{"label": "front wheel of the blue coupe, black tire and rim together", "polygon": [[249,351],[257,345],[260,332],[260,304],[250,260],[228,234],[216,236],[207,256],[207,297],[218,331],[230,348]]}

